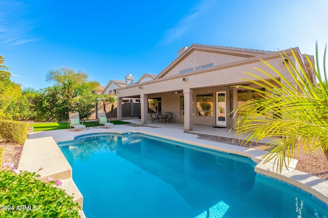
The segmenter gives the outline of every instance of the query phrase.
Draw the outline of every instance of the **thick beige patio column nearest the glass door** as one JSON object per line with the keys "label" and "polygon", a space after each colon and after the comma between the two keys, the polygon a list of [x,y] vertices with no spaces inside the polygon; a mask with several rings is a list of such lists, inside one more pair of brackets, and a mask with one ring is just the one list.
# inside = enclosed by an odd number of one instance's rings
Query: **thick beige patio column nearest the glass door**
{"label": "thick beige patio column nearest the glass door", "polygon": [[185,115],[183,116],[183,121],[185,130],[190,131],[193,129],[193,89],[183,89],[183,98],[185,101]]}

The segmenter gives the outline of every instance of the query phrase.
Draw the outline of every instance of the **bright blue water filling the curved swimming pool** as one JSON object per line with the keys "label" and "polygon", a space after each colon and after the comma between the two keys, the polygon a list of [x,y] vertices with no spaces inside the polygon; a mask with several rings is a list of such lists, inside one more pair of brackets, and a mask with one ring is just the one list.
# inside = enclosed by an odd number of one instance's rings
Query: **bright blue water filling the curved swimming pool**
{"label": "bright blue water filling the curved swimming pool", "polygon": [[58,143],[91,217],[328,217],[309,193],[238,155],[142,134]]}

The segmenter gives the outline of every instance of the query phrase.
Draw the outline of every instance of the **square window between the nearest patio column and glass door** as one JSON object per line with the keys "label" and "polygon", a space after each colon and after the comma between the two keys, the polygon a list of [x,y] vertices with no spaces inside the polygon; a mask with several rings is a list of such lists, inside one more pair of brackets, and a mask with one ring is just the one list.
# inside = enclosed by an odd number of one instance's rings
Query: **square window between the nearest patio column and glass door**
{"label": "square window between the nearest patio column and glass door", "polygon": [[213,94],[197,94],[197,116],[213,116]]}

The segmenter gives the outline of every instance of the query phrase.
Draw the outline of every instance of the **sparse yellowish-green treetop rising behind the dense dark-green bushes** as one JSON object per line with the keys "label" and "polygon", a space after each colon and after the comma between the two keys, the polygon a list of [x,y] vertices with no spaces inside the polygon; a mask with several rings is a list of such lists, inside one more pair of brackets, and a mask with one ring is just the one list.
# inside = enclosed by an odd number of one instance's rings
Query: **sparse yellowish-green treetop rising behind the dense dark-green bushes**
{"label": "sparse yellowish-green treetop rising behind the dense dark-green bushes", "polygon": [[82,71],[75,72],[73,69],[63,67],[57,70],[50,70],[46,75],[46,81],[53,82],[55,85],[71,82],[75,86],[87,86],[90,89],[99,86],[97,81],[88,81],[89,76]]}

